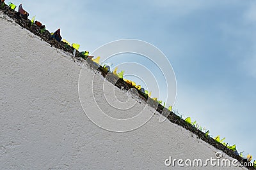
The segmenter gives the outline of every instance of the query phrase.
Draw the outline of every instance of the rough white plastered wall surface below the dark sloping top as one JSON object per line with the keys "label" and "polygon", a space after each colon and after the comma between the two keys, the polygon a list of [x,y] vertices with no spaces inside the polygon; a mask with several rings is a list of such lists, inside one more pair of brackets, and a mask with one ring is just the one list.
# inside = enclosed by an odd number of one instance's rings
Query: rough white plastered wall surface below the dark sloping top
{"label": "rough white plastered wall surface below the dark sloping top", "polygon": [[[109,132],[93,124],[77,92],[81,64],[8,20],[0,12],[0,169],[242,169],[166,167],[169,156],[206,160],[220,151],[168,120],[160,124],[150,108],[150,121],[131,132]],[[127,93],[111,83],[105,88],[127,100]],[[95,97],[113,111],[104,94]],[[140,107],[145,104],[136,103],[135,110]],[[116,117],[124,116],[119,113]]]}

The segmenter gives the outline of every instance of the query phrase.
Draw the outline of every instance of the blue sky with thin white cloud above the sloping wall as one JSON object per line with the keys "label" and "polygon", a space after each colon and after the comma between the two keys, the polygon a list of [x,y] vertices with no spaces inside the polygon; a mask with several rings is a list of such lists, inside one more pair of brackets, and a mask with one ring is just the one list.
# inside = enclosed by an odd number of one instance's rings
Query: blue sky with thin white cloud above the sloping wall
{"label": "blue sky with thin white cloud above the sloping wall", "polygon": [[80,50],[124,38],[157,46],[175,71],[179,113],[256,159],[256,1],[12,2]]}

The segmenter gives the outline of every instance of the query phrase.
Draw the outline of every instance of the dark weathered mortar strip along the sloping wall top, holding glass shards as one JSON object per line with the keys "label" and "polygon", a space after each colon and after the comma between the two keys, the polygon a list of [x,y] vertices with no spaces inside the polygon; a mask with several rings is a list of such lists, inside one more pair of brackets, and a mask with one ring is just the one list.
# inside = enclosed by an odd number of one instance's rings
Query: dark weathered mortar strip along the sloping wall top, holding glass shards
{"label": "dark weathered mortar strip along the sloping wall top, holding glass shards", "polygon": [[[3,3],[0,3],[0,6],[1,4]],[[71,55],[73,54],[74,48],[67,45],[67,43],[64,43],[63,41],[58,42],[56,41],[56,39],[51,39],[51,33],[47,30],[45,30],[41,34],[40,27],[38,27],[38,25],[35,25],[35,24],[31,25],[31,20],[29,20],[28,18],[23,18],[19,14],[19,12],[11,10],[7,5],[3,6],[3,8],[1,8],[0,10],[3,11],[4,14],[8,15],[8,17],[15,20],[15,22],[19,24],[21,27],[28,29],[28,31],[32,32],[36,36],[39,36],[41,40],[44,40],[45,42],[49,43],[51,46],[54,46],[55,48],[68,52]],[[97,71],[99,71],[104,78],[106,78],[109,82],[113,83],[113,85],[118,87],[118,89],[129,90],[131,88],[134,88],[132,87],[132,85],[124,81],[122,78],[119,78],[115,74],[108,72],[104,67],[100,65],[96,66],[92,60],[85,59],[84,55],[82,55],[78,51],[76,52],[75,57],[72,57],[72,59],[74,59],[74,61],[76,60],[79,62],[84,62],[85,60],[91,68],[97,69]],[[178,115],[175,115],[175,113],[173,113],[172,111],[169,111],[168,109],[164,108],[164,106],[162,106],[157,101],[154,101],[153,99],[148,97],[147,94],[141,92],[141,90],[138,90],[138,89],[136,90],[139,94],[140,99],[145,101],[148,104],[148,106],[151,106],[152,108],[156,109],[156,111],[159,112],[164,117],[167,116],[168,120],[170,120],[170,122],[172,122],[173,124],[177,124],[183,127],[184,129],[187,129],[188,131],[193,132],[193,134],[196,134],[198,139],[202,139],[209,145],[212,145],[218,150],[221,150],[222,152],[227,153],[228,156],[233,157],[234,159],[237,159],[239,162],[244,162],[244,160],[241,157],[239,157],[239,155],[236,155],[232,150],[230,150],[229,148],[227,148],[226,146],[220,143],[217,143],[213,138],[209,136],[206,137],[204,132],[196,129],[196,127],[193,127],[193,125],[189,124],[188,122],[180,118]],[[169,112],[170,114],[166,115],[166,113],[169,113]],[[253,167],[247,167],[247,168],[253,169]]]}

